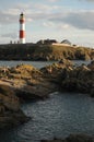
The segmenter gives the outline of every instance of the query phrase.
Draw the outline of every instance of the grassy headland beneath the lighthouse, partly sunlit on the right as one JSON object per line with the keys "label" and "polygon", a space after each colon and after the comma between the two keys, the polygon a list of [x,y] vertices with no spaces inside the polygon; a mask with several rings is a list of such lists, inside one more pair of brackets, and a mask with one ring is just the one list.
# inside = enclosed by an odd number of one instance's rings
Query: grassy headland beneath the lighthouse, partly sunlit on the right
{"label": "grassy headland beneath the lighthouse, partly sunlit on the right", "polygon": [[51,44],[1,45],[0,60],[91,60],[94,49]]}

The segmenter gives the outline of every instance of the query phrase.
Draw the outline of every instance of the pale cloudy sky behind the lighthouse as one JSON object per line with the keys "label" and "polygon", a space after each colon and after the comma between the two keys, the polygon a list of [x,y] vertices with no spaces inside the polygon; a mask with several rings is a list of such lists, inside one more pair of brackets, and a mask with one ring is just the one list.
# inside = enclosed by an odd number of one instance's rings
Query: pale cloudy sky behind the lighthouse
{"label": "pale cloudy sky behind the lighthouse", "polygon": [[0,44],[19,40],[19,19],[26,19],[26,42],[51,38],[94,47],[94,0],[1,0]]}

